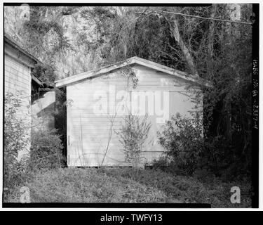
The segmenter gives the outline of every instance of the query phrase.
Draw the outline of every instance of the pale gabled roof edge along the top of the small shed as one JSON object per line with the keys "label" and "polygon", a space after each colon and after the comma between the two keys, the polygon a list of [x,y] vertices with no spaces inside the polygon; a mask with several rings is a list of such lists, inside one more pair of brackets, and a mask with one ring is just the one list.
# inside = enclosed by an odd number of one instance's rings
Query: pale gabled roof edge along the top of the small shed
{"label": "pale gabled roof edge along the top of the small shed", "polygon": [[132,58],[128,58],[127,60],[124,60],[124,61],[119,62],[119,63],[107,65],[107,66],[100,68],[100,69],[97,69],[97,70],[90,70],[88,72],[82,72],[78,75],[74,75],[71,77],[66,77],[64,79],[57,80],[57,81],[55,81],[55,86],[57,86],[57,87],[67,86],[67,85],[72,84],[74,82],[79,82],[82,79],[100,77],[101,75],[104,75],[107,72],[111,72],[112,70],[117,70],[119,68],[123,68],[126,65],[133,65],[133,64],[143,65],[143,66],[145,66],[147,68],[151,68],[153,70],[159,70],[161,72],[165,72],[169,75],[173,75],[177,78],[181,78],[181,79],[187,80],[189,82],[194,82],[194,83],[199,84],[199,85],[210,86],[209,82],[201,79],[198,76],[189,75],[186,72],[182,72],[180,70],[168,68],[165,65],[161,65],[159,63],[154,63],[152,61],[149,61],[149,60],[146,60],[143,58],[139,58],[136,56],[132,57]]}

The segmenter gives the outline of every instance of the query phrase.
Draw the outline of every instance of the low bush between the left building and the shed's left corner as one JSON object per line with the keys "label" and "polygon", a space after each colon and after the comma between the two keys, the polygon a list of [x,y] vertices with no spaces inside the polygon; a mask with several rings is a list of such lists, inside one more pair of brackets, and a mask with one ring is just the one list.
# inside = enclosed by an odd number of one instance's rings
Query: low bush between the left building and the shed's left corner
{"label": "low bush between the left building and the shed's left corner", "polygon": [[30,168],[45,169],[62,167],[65,158],[62,155],[62,143],[57,130],[32,131]]}

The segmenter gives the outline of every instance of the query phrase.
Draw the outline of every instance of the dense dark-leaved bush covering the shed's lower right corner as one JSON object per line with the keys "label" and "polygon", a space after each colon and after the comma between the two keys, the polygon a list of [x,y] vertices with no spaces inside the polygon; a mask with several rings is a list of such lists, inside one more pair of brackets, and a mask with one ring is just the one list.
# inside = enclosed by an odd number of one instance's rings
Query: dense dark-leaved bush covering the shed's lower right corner
{"label": "dense dark-leaved bush covering the shed's lower right corner", "polygon": [[179,113],[166,122],[162,132],[158,132],[159,143],[168,150],[173,163],[192,174],[198,167],[198,159],[204,147],[201,117],[182,117]]}

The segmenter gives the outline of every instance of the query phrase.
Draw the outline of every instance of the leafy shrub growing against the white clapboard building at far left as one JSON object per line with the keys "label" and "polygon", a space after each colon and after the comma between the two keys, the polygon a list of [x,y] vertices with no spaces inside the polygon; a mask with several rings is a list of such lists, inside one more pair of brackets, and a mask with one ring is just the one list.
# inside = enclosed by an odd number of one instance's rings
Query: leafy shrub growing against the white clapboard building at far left
{"label": "leafy shrub growing against the white clapboard building at far left", "polygon": [[18,116],[21,107],[18,95],[6,94],[4,103],[4,186],[13,188],[21,181],[27,166],[27,158],[18,156],[29,150],[29,124]]}

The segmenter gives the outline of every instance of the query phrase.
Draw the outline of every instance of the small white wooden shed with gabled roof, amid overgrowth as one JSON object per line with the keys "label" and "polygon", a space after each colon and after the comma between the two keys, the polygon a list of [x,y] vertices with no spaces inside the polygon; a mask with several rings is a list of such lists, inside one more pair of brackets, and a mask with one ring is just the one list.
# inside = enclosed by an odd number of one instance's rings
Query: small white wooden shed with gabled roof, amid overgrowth
{"label": "small white wooden shed with gabled roof, amid overgrowth", "polygon": [[[124,68],[135,72],[137,86],[123,75]],[[60,79],[55,85],[67,88],[67,165],[99,167],[106,151],[104,166],[127,165],[117,133],[128,112],[147,113],[151,129],[142,156],[145,162],[159,158],[164,149],[156,131],[176,113],[190,117],[196,107],[202,110],[202,99],[196,105],[193,98],[207,84],[196,76],[133,57]]]}

